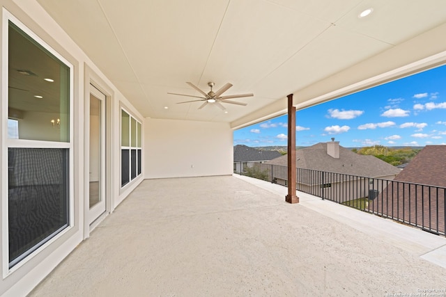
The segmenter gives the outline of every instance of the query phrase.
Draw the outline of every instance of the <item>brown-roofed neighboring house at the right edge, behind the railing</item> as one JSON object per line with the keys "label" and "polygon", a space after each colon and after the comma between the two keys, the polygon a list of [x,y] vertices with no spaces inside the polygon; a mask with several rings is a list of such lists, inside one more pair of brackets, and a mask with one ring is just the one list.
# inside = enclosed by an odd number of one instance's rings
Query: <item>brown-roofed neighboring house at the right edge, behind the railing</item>
{"label": "brown-roofed neighboring house at the right edge, behind the railing", "polygon": [[374,211],[444,234],[445,164],[446,145],[426,145],[374,200]]}

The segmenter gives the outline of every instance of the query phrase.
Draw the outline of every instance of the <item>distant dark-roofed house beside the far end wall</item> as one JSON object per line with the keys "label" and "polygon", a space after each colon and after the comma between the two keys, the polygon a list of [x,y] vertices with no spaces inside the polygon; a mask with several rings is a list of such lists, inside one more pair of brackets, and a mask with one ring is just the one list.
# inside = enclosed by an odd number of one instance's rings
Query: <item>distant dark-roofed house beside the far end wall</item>
{"label": "distant dark-roofed house beside the far end wall", "polygon": [[234,147],[234,172],[240,173],[243,168],[252,167],[254,163],[265,163],[282,156],[275,150],[257,150],[246,145]]}

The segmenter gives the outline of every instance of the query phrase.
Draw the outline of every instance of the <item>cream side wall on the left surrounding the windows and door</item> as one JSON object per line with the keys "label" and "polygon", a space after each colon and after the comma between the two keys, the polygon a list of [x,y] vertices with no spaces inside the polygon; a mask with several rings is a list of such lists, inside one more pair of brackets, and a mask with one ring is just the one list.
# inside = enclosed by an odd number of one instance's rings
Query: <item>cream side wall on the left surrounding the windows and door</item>
{"label": "cream side wall on the left surrounding the windows and door", "polygon": [[[3,33],[8,31],[8,23],[5,22],[5,15],[2,15],[2,22],[0,22],[0,34],[2,40],[1,57],[2,69],[1,72],[1,109],[0,109],[0,129],[1,129],[1,146],[0,146],[0,193],[2,195],[2,202],[0,204],[1,220],[1,279],[0,279],[0,296],[26,296],[26,294],[33,289],[45,276],[52,271],[75,247],[82,242],[83,239],[89,236],[91,225],[89,225],[88,218],[88,181],[89,181],[89,83],[94,83],[95,86],[105,91],[107,94],[107,104],[109,111],[107,116],[109,118],[109,130],[107,131],[107,138],[109,138],[109,160],[107,164],[110,170],[110,177],[107,178],[109,188],[107,188],[107,209],[106,213],[113,211],[114,207],[119,204],[138,184],[142,181],[143,173],[140,177],[135,179],[131,184],[121,188],[120,184],[120,118],[121,106],[133,113],[137,118],[142,118],[132,104],[113,86],[113,84],[105,77],[98,67],[96,67],[86,54],[78,47],[66,33],[54,22],[54,20],[47,15],[45,10],[41,8],[38,1],[10,1],[0,0],[1,6],[8,10],[10,15],[17,18],[24,26],[30,29],[34,34],[38,35],[44,42],[57,51],[63,58],[73,65],[73,98],[74,103],[72,109],[73,124],[72,124],[72,195],[70,196],[72,209],[72,223],[70,227],[63,230],[61,234],[55,236],[53,239],[31,253],[22,262],[8,268],[8,251],[5,248],[5,243],[8,240],[8,139],[7,139],[7,117],[8,117],[8,86],[5,84],[4,75],[8,75],[5,71],[5,57],[8,51],[7,39],[4,38]],[[106,47],[107,45],[105,45]],[[26,128],[26,127],[24,127]],[[47,129],[47,127],[45,127]],[[144,127],[143,127],[144,129]],[[216,129],[217,134],[222,129]],[[229,128],[228,128],[229,130]],[[217,137],[210,138],[215,142]],[[232,138],[230,141],[232,141]],[[214,147],[215,149],[215,147]],[[228,150],[232,149],[232,145],[228,146]],[[143,147],[144,150],[144,147]],[[221,151],[221,150],[220,150]],[[220,152],[217,150],[217,153]],[[219,156],[217,154],[215,156]],[[208,158],[206,161],[209,161]],[[216,158],[218,159],[218,158]],[[230,158],[224,157],[224,162],[231,163]],[[229,159],[229,161],[228,161]],[[222,166],[220,166],[222,167]],[[223,170],[222,170],[223,171]],[[230,171],[230,170],[229,170]],[[105,216],[105,215],[104,215]],[[103,216],[102,216],[103,217]],[[102,218],[101,217],[101,218]]]}

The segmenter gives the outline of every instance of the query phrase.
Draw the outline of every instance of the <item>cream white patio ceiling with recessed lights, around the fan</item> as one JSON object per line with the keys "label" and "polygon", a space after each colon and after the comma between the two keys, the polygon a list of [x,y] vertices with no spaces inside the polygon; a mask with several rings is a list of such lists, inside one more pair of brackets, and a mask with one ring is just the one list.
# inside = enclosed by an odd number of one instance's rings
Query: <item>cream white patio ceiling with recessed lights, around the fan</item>
{"label": "cream white patio ceiling with recessed lights, around the fan", "polygon": [[[38,2],[145,117],[242,125],[254,113],[283,110],[276,103],[286,95],[316,88],[446,22],[444,0]],[[357,17],[366,8],[373,13]],[[405,51],[408,61],[418,51]],[[373,74],[387,69],[373,68]],[[234,99],[247,106],[225,104],[228,113],[213,104],[199,110],[201,102],[176,104],[192,98],[167,94],[200,95],[186,81],[206,93],[208,81],[214,90],[229,82],[224,95],[254,97]]]}

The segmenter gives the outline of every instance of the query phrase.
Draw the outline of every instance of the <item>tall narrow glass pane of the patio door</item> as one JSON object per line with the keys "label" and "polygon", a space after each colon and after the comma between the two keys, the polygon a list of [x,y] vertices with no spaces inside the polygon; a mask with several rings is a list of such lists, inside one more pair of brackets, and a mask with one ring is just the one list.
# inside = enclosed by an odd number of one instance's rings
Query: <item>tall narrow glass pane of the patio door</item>
{"label": "tall narrow glass pane of the patio door", "polygon": [[100,99],[90,95],[90,208],[101,199],[101,104]]}

